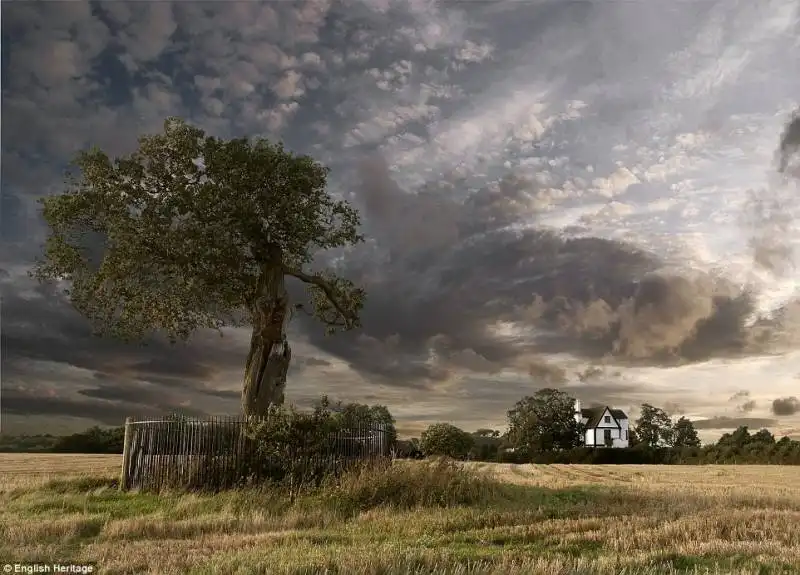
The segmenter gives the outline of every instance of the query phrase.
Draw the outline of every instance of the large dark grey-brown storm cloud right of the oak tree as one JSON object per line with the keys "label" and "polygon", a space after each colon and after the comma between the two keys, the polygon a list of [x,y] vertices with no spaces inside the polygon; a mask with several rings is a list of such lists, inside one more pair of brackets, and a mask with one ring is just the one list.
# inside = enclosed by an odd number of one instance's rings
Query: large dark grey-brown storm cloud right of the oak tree
{"label": "large dark grey-brown storm cloud right of the oak tree", "polygon": [[[745,356],[793,341],[794,302],[753,323],[757,294],[724,277],[675,268],[631,244],[537,226],[531,199],[540,190],[524,178],[477,191],[450,178],[412,193],[377,156],[360,175],[354,201],[380,275],[374,262],[342,271],[367,286],[364,330],[312,337],[365,372],[426,376],[430,362],[410,366],[437,337],[449,342],[444,361],[464,350],[495,363],[566,352],[628,365]],[[516,324],[514,335],[498,334],[499,321]],[[405,354],[402,374],[376,361],[378,349]]]}

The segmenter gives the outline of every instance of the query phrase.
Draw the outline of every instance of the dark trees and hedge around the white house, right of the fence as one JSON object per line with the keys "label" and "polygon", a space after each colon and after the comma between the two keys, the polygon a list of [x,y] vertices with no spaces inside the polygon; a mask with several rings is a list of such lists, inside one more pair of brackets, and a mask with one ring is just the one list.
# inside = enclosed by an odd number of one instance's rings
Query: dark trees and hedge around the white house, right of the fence
{"label": "dark trees and hedge around the white house, right of the fence", "polygon": [[507,463],[800,465],[800,441],[788,437],[776,441],[766,429],[751,434],[742,426],[715,444],[701,446],[689,419],[673,422],[663,409],[648,403],[642,404],[641,414],[629,430],[630,447],[585,447],[585,430],[574,417],[574,405],[568,394],[542,389],[509,410],[505,433],[492,429],[469,433],[436,423],[419,439],[398,442],[398,453]]}

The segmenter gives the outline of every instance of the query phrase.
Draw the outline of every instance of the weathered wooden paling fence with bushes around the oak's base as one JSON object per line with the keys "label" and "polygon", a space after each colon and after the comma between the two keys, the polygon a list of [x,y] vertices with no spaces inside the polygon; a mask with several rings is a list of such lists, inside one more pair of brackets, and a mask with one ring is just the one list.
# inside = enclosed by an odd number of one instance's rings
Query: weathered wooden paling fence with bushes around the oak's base
{"label": "weathered wooden paling fence with bushes around the oak's base", "polygon": [[389,457],[393,448],[393,434],[375,425],[323,434],[323,441],[313,445],[295,434],[291,440],[267,441],[265,450],[248,435],[248,423],[252,420],[235,417],[129,417],[120,489],[225,489],[290,474],[320,476],[357,461]]}

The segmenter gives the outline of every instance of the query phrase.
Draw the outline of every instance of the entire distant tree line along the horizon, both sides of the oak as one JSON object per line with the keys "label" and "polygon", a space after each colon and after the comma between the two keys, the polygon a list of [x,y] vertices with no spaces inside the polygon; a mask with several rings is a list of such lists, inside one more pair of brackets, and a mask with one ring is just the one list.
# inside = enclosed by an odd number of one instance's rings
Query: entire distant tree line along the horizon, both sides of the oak
{"label": "entire distant tree line along the horizon, both sides of the oak", "polygon": [[[518,401],[508,412],[508,430],[468,432],[450,423],[434,423],[419,438],[397,440],[395,419],[386,406],[332,403],[323,397],[315,406],[339,428],[383,424],[401,458],[447,456],[461,460],[507,463],[598,464],[781,464],[800,465],[800,441],[776,440],[766,429],[747,426],[726,433],[711,445],[700,445],[694,424],[673,422],[661,408],[642,404],[629,430],[628,448],[582,445],[584,429],[574,417],[575,401],[556,389],[542,389]],[[64,437],[52,435],[0,437],[0,452],[122,453],[124,427],[92,427]]]}

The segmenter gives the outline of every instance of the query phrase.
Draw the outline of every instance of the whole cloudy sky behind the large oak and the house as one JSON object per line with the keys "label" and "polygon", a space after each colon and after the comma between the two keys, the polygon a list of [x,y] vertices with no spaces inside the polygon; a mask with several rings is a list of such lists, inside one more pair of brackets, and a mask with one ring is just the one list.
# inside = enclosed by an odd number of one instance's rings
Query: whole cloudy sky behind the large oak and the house
{"label": "whole cloudy sky behind the large oak and the house", "polygon": [[178,115],[312,154],[364,216],[332,260],[368,289],[363,330],[294,323],[290,401],[474,429],[557,385],[707,439],[800,435],[796,0],[6,2],[2,22],[4,431],[238,409],[246,331],[95,339],[26,275],[73,154]]}

